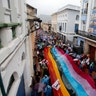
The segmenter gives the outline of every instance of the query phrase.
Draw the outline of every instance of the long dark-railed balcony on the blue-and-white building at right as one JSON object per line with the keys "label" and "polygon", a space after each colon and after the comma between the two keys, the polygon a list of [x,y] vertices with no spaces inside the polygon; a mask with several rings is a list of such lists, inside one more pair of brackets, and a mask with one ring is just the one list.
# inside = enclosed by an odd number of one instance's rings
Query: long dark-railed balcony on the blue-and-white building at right
{"label": "long dark-railed balcony on the blue-and-white building at right", "polygon": [[91,32],[85,32],[85,31],[79,30],[77,34],[96,41],[96,32],[91,33]]}

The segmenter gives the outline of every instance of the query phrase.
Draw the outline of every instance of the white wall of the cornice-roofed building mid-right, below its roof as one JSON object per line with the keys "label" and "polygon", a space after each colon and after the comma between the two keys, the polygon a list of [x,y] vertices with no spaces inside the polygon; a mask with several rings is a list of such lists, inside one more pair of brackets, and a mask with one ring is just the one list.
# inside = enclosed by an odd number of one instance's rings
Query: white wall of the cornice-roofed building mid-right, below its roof
{"label": "white wall of the cornice-roofed building mid-right, below its roof", "polygon": [[[79,15],[79,11],[72,11],[72,10],[65,10],[58,13],[57,22],[62,26],[62,24],[67,24],[66,32],[67,33],[74,33],[75,22],[76,22],[76,15]],[[79,23],[79,22],[77,22]],[[63,26],[62,26],[63,28]],[[65,29],[65,28],[64,28]],[[62,32],[65,32],[62,30]]]}

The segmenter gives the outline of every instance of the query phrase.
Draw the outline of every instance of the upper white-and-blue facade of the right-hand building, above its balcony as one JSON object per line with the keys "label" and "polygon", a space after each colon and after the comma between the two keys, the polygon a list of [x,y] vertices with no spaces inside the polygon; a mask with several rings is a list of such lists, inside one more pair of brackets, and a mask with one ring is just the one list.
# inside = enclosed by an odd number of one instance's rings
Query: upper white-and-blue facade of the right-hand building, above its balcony
{"label": "upper white-and-blue facade of the right-hand building, above its balcony", "polygon": [[81,0],[79,30],[93,31],[93,23],[96,22],[96,0]]}

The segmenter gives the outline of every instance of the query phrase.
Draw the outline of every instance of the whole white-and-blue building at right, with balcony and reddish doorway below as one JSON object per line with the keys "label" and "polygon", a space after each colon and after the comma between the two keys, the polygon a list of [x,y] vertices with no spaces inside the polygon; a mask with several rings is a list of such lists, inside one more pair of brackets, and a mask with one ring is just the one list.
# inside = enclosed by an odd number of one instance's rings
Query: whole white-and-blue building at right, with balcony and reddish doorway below
{"label": "whole white-and-blue building at right, with balcony and reddish doorway below", "polygon": [[[76,39],[77,38],[77,39]],[[75,41],[96,61],[96,0],[81,0],[79,32]]]}

